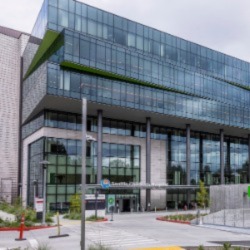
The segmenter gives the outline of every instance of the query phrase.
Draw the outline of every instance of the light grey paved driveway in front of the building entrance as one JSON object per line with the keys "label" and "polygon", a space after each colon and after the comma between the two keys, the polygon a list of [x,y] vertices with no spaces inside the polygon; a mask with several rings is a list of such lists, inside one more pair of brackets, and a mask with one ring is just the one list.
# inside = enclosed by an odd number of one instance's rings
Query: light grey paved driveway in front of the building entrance
{"label": "light grey paved driveway in front of the building entrance", "polygon": [[[223,241],[247,242],[250,246],[250,229],[233,230],[225,227],[201,227],[157,221],[161,213],[133,213],[114,215],[114,221],[86,223],[86,245],[107,245],[114,250],[157,246],[213,246]],[[107,216],[110,219],[110,216]],[[80,249],[80,221],[61,219],[61,233],[69,237],[49,239],[57,234],[56,228],[33,230],[24,233],[26,241],[15,241],[18,232],[0,232],[0,250],[14,247],[35,248],[48,244],[52,250]],[[218,242],[218,243],[215,243]],[[32,249],[32,248],[30,248]],[[86,247],[86,250],[88,247]]]}

